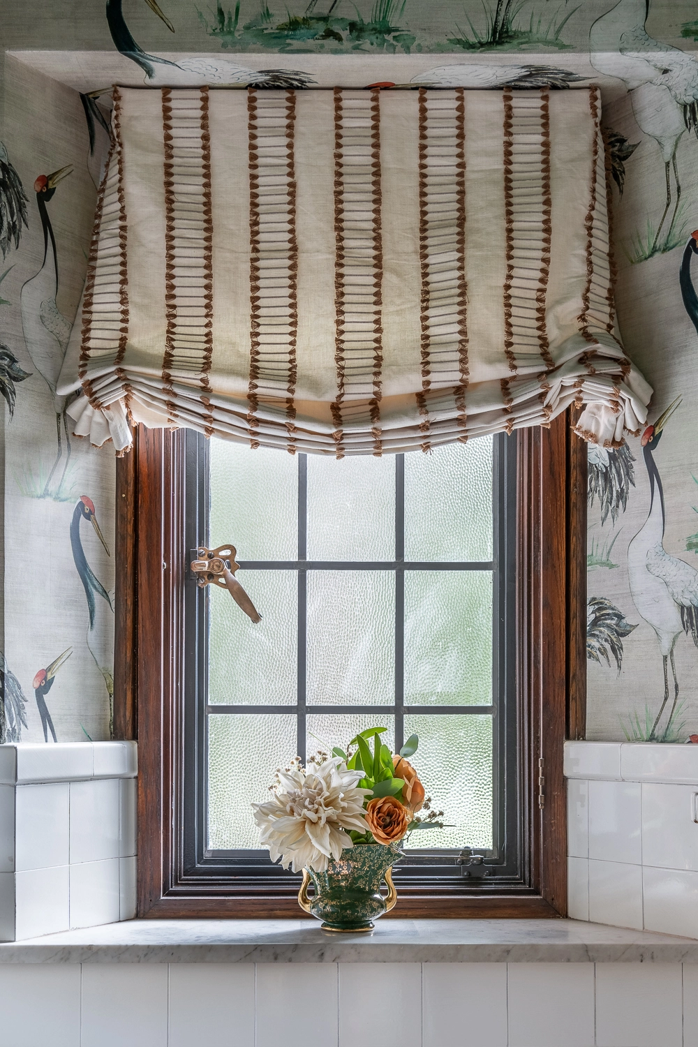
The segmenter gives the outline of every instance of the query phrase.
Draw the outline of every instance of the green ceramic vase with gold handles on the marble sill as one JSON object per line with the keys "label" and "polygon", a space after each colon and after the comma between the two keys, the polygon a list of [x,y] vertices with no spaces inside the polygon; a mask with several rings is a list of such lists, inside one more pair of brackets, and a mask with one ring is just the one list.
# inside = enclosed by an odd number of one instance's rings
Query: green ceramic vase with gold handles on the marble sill
{"label": "green ceramic vase with gold handles on the marble sill", "polygon": [[[356,844],[330,862],[327,872],[303,869],[298,905],[322,920],[323,931],[373,931],[373,920],[389,912],[398,900],[390,868],[402,857],[396,847]],[[385,881],[388,893],[380,886]],[[315,894],[309,895],[313,885]]]}

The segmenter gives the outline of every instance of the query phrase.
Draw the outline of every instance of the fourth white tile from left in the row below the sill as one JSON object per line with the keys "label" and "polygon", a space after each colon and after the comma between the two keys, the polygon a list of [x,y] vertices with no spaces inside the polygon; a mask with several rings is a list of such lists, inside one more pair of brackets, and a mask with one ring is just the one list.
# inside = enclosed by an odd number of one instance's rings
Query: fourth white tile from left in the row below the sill
{"label": "fourth white tile from left in the row below the sill", "polygon": [[336,1044],[337,975],[333,963],[257,963],[255,1047]]}

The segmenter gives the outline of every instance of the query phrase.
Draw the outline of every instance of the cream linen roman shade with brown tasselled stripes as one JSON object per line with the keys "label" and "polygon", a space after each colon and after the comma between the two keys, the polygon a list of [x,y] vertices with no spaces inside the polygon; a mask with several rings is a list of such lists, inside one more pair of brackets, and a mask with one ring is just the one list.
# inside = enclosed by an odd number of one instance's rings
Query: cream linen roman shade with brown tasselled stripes
{"label": "cream linen roman shade with brown tasselled stripes", "polygon": [[380,454],[577,402],[616,445],[652,391],[615,330],[600,116],[595,88],[115,90],[75,432]]}

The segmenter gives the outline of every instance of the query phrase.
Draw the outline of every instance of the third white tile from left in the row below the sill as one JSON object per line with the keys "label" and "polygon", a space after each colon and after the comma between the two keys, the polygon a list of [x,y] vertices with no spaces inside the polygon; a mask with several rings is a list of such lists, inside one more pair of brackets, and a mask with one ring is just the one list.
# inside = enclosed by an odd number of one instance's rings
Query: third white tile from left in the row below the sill
{"label": "third white tile from left in the row below the sill", "polygon": [[[337,973],[332,973],[336,984]],[[278,1019],[275,1004],[273,1008]],[[172,963],[168,1025],[167,1047],[202,1041],[217,1047],[254,1047],[254,964]],[[285,1042],[285,1037],[276,1040]],[[335,1047],[336,1035],[330,1044]]]}

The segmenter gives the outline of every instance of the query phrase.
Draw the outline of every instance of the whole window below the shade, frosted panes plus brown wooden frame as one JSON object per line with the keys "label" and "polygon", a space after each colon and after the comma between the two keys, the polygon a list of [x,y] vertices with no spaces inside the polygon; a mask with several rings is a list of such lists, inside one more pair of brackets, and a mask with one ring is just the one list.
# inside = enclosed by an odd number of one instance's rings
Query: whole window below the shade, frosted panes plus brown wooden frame
{"label": "whole window below the shade, frosted panes plus brown wooden frame", "polygon": [[[137,701],[141,914],[296,915],[299,877],[244,817],[250,783],[378,722],[398,744],[420,735],[453,823],[396,866],[399,914],[564,912],[562,740],[584,669],[568,642],[577,442],[561,419],[337,463],[139,431],[119,464],[135,518],[119,506],[116,646],[137,648],[117,665],[117,723],[135,733]],[[192,579],[198,545],[226,541],[261,625]],[[467,846],[486,877],[464,875]]]}

